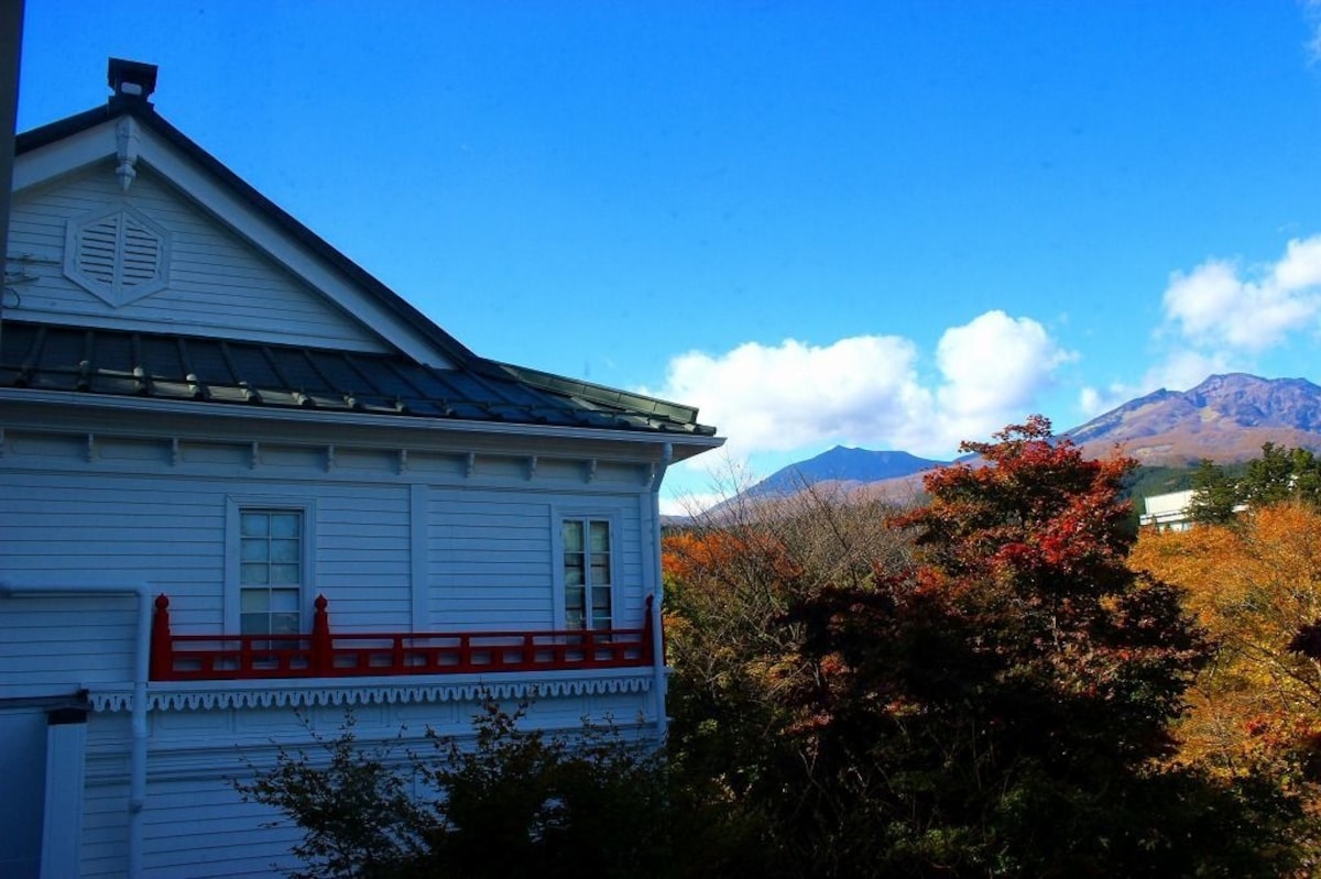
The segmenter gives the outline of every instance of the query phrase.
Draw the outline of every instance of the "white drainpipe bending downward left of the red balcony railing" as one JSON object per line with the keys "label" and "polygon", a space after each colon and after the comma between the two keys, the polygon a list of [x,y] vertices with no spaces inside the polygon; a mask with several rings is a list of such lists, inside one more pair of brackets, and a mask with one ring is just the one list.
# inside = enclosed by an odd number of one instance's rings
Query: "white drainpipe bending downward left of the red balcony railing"
{"label": "white drainpipe bending downward left of the red balcony railing", "polygon": [[143,806],[147,805],[147,681],[151,673],[152,590],[147,583],[16,583],[0,581],[0,597],[137,597],[133,656],[132,750],[128,758],[128,876],[143,875]]}

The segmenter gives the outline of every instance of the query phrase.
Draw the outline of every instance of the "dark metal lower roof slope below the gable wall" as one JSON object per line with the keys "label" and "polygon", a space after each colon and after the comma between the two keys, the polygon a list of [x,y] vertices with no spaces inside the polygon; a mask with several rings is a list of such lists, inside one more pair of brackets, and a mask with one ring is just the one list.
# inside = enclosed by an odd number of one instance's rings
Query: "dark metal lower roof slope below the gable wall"
{"label": "dark metal lower roof slope below the gable wall", "polygon": [[5,321],[0,388],[507,424],[715,434],[697,410],[485,362]]}

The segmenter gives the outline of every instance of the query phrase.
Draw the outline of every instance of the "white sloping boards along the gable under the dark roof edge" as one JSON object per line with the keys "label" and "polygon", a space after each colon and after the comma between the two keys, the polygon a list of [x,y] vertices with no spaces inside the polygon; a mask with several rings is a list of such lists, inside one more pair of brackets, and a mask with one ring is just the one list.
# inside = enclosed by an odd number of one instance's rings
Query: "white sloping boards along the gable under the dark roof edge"
{"label": "white sloping boards along the gable under the dark roof edge", "polygon": [[[15,161],[15,193],[70,174],[116,154],[116,120],[78,132],[54,144],[30,150]],[[437,368],[453,367],[412,323],[382,305],[374,296],[342,276],[334,267],[292,240],[277,223],[254,210],[229,186],[215,181],[188,156],[148,125],[141,125],[139,162],[168,179],[185,197],[229,227],[312,289],[329,298],[345,314],[363,323],[412,359]]]}

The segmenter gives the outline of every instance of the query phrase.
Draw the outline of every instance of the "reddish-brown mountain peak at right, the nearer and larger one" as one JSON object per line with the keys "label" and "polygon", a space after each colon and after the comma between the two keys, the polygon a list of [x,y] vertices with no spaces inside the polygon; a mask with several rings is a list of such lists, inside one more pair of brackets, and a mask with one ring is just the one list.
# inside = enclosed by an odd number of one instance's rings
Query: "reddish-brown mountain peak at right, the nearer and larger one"
{"label": "reddish-brown mountain peak at right, the nearer and larger one", "polygon": [[1248,461],[1262,443],[1321,451],[1321,387],[1306,379],[1213,375],[1192,391],[1156,391],[1067,432],[1091,455],[1120,445],[1149,466]]}

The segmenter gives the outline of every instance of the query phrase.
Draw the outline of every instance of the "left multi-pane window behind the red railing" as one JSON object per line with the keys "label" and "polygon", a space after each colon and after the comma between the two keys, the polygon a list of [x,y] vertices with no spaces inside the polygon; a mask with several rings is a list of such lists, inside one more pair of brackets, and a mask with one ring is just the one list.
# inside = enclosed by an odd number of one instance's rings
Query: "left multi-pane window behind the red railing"
{"label": "left multi-pane window behind the red railing", "polygon": [[293,635],[303,622],[301,509],[239,509],[239,631]]}

